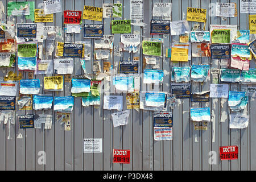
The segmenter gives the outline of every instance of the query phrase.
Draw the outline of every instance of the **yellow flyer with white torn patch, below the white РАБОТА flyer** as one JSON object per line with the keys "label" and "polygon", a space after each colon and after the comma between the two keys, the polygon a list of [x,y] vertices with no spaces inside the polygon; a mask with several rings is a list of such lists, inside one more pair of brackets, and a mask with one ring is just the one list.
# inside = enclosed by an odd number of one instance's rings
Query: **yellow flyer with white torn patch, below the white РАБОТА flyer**
{"label": "yellow flyer with white torn patch, below the white \u0420\u0410\u0411\u041e\u0422\u0410 flyer", "polygon": [[44,77],[44,90],[62,91],[63,76],[46,76]]}

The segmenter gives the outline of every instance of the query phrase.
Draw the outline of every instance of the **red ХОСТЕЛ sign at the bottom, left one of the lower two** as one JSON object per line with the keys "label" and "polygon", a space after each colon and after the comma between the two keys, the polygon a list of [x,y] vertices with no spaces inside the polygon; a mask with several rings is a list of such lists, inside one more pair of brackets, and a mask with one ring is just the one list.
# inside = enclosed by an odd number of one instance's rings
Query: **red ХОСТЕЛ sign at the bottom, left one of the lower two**
{"label": "red \u0425\u041e\u0421\u0422\u0415\u041b sign at the bottom, left one of the lower two", "polygon": [[130,164],[130,150],[113,149],[113,163]]}

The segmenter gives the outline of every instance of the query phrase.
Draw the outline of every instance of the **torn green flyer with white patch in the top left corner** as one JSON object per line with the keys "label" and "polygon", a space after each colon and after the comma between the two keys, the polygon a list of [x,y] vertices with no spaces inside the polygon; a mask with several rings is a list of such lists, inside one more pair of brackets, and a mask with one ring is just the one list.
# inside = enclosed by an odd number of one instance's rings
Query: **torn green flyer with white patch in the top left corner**
{"label": "torn green flyer with white patch in the top left corner", "polygon": [[35,2],[9,2],[7,4],[7,16],[25,16],[25,18],[35,20]]}

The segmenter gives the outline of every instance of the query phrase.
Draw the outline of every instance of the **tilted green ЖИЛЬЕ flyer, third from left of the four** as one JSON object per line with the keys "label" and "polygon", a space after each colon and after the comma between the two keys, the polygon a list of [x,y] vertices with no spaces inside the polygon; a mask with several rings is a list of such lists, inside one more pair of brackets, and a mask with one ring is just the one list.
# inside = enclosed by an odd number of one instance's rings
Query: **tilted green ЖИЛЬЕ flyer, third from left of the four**
{"label": "tilted green \u0416\u0418\u041b\u042c\u0415 flyer, third from left of the four", "polygon": [[162,43],[143,40],[143,55],[162,56]]}

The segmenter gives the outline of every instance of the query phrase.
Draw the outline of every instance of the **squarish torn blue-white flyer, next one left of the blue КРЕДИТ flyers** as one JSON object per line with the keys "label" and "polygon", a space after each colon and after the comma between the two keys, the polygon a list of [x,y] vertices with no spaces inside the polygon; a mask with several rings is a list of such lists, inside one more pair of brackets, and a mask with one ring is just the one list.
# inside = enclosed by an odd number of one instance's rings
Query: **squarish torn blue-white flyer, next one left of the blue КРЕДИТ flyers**
{"label": "squarish torn blue-white flyer, next one left of the blue \u041a\u0420\u0415\u0414\u0418\u0422 flyers", "polygon": [[210,65],[192,65],[191,80],[197,82],[204,82],[209,80]]}

